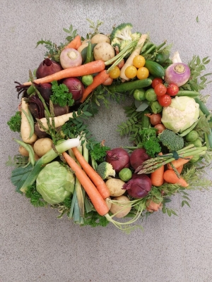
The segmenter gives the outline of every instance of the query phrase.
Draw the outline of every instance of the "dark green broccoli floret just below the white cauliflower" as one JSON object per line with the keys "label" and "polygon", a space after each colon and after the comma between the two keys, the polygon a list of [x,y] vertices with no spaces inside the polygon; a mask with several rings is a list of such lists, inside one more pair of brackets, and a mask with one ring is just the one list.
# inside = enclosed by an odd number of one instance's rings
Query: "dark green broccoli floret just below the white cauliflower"
{"label": "dark green broccoli floret just below the white cauliflower", "polygon": [[162,133],[159,133],[158,139],[162,142],[163,146],[167,147],[170,151],[178,151],[184,147],[183,137],[169,129],[165,129]]}

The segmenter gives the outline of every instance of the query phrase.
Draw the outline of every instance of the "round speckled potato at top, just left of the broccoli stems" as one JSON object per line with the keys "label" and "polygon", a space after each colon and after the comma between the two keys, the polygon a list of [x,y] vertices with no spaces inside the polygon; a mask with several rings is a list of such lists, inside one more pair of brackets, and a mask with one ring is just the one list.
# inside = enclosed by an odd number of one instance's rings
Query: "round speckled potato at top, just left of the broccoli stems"
{"label": "round speckled potato at top, just left of the broccoli stems", "polygon": [[93,49],[95,61],[108,61],[115,56],[113,47],[107,42],[101,42],[95,45]]}

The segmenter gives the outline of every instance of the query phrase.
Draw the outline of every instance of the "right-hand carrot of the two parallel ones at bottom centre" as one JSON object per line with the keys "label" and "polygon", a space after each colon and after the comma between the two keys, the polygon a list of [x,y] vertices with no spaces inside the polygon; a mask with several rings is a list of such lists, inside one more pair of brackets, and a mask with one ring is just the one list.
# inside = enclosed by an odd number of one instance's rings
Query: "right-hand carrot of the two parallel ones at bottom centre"
{"label": "right-hand carrot of the two parallel ones at bottom centre", "polygon": [[86,161],[86,159],[76,147],[73,147],[72,151],[73,154],[75,154],[78,162],[81,164],[83,170],[86,171],[86,174],[95,184],[95,187],[100,192],[100,195],[102,195],[102,198],[106,199],[107,197],[110,197],[110,190],[107,188],[107,185],[105,184],[105,181],[101,178],[101,176],[93,169],[92,166],[90,166],[90,164],[88,164],[88,161]]}

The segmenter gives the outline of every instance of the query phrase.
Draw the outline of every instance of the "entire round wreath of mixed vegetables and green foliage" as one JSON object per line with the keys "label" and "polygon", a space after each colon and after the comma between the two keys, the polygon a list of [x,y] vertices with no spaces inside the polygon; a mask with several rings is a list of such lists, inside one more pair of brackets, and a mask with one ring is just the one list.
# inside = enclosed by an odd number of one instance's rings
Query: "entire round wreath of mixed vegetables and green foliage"
{"label": "entire round wreath of mixed vegetables and green foliage", "polygon": [[[66,43],[41,40],[45,59],[28,82],[16,82],[21,102],[8,126],[20,133],[11,182],[35,207],[50,206],[81,226],[114,223],[122,231],[141,228],[143,216],[167,207],[171,196],[189,206],[189,190],[211,186],[204,169],[211,163],[208,57],[184,63],[170,59],[171,44],[154,44],[133,32],[131,23],[99,31],[88,20],[86,38],[64,29]],[[21,95],[21,97],[20,97]],[[110,148],[95,140],[86,121],[101,104],[122,102],[126,121],[118,125],[131,147]],[[119,222],[120,218],[125,220]]]}

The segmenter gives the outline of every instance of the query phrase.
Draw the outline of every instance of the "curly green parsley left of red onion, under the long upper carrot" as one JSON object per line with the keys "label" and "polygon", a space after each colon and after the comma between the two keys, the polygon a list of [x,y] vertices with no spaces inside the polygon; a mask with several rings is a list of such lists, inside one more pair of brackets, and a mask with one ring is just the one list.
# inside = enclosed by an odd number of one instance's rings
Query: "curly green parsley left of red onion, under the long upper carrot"
{"label": "curly green parsley left of red onion, under the long upper carrot", "polygon": [[69,88],[63,83],[58,84],[56,80],[52,81],[52,95],[50,97],[53,104],[59,106],[73,106],[74,100]]}

